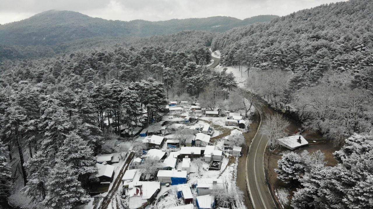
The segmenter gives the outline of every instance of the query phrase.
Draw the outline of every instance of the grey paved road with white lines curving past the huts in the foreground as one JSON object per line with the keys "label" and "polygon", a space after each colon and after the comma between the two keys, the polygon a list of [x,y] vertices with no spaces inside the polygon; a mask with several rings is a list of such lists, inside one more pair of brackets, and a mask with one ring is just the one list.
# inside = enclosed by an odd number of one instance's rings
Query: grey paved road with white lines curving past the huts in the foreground
{"label": "grey paved road with white lines curving past the huts in the foreground", "polygon": [[264,152],[268,144],[268,138],[260,134],[261,124],[264,123],[266,115],[272,115],[274,112],[265,104],[256,106],[259,107],[257,110],[260,113],[261,120],[257,134],[250,145],[246,161],[246,180],[254,208],[274,209],[276,204],[266,183],[266,175],[264,173]]}

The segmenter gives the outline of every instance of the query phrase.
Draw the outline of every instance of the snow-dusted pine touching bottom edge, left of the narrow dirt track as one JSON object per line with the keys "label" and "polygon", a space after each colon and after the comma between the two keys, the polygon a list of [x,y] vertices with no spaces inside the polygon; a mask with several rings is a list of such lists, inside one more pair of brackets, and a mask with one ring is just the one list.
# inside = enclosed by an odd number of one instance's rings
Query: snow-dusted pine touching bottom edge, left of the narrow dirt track
{"label": "snow-dusted pine touching bottom edge, left of the narrow dirt track", "polygon": [[51,170],[46,183],[48,193],[43,201],[46,209],[74,209],[89,202],[73,165],[59,162]]}

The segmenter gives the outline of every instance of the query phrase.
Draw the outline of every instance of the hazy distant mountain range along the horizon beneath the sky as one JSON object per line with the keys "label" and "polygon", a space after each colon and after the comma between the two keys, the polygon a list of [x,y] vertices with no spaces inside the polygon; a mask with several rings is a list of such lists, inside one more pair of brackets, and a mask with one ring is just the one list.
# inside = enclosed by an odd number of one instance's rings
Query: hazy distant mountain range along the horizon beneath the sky
{"label": "hazy distant mountain range along the horizon beneath the sky", "polygon": [[224,32],[254,22],[268,22],[278,16],[261,15],[245,20],[233,17],[172,19],[150,22],[104,20],[78,12],[49,10],[28,19],[0,25],[0,44],[55,45],[93,37],[145,37],[176,33],[182,30]]}

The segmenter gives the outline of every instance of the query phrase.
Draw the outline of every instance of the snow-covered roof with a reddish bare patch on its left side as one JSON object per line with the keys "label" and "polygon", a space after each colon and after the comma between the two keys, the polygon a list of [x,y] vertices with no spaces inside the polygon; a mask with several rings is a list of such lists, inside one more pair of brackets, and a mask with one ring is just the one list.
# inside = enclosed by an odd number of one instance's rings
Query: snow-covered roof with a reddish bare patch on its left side
{"label": "snow-covered roof with a reddish bare patch on its left side", "polygon": [[128,184],[129,196],[142,196],[142,199],[149,199],[160,189],[159,181],[132,181]]}

